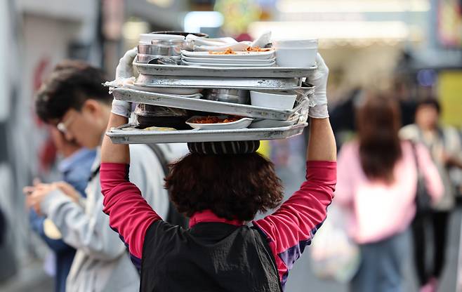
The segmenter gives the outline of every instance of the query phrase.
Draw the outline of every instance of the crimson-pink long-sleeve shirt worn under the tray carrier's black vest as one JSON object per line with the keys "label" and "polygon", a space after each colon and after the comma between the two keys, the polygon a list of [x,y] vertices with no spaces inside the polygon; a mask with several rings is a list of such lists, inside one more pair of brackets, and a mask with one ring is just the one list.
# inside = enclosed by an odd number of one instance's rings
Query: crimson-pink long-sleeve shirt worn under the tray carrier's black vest
{"label": "crimson-pink long-sleeve shirt worn under the tray carrier's black vest", "polygon": [[[110,226],[128,245],[134,263],[139,263],[146,230],[161,218],[141,197],[138,187],[128,181],[126,164],[101,164],[100,180],[105,196],[103,211],[110,216]],[[310,244],[316,230],[325,220],[326,208],[331,204],[335,185],[336,162],[310,161],[307,164],[306,181],[300,190],[275,213],[253,222],[267,237],[282,286],[293,263],[300,257],[305,246]],[[190,226],[198,222],[244,224],[228,222],[211,211],[194,214]]]}

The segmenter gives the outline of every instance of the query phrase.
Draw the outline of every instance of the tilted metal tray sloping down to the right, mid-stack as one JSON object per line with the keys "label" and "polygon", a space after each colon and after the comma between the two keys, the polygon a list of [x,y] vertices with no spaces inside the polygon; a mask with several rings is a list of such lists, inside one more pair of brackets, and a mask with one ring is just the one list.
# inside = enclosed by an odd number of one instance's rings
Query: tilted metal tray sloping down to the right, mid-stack
{"label": "tilted metal tray sloping down to the right, mid-stack", "polygon": [[128,88],[114,88],[112,93],[114,98],[117,100],[145,103],[147,105],[160,105],[162,107],[176,107],[186,110],[232,114],[256,119],[275,119],[285,121],[286,119],[289,119],[293,113],[300,111],[302,107],[308,107],[308,100],[306,100],[306,96],[312,93],[312,90],[312,88],[307,88],[304,93],[305,95],[300,102],[298,102],[298,105],[293,108],[293,110],[275,110],[266,107],[255,107],[253,105],[239,105],[237,103],[230,102],[183,98],[178,95],[152,93]]}

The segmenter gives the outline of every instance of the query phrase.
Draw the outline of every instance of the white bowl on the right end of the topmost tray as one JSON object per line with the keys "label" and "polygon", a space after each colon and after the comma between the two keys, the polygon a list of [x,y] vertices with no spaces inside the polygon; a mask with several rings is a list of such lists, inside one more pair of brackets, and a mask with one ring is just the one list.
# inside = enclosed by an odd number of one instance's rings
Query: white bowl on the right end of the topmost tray
{"label": "white bowl on the right end of the topmost tray", "polygon": [[311,67],[316,64],[317,48],[277,48],[276,64],[280,67]]}

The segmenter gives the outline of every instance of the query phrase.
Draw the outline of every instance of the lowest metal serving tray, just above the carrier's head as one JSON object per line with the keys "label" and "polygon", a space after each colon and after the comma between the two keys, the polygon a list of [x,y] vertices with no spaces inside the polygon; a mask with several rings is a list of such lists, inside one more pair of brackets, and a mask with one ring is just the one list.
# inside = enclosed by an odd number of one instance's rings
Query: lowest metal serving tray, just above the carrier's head
{"label": "lowest metal serving tray, just above the carrier's head", "polygon": [[306,123],[281,128],[243,128],[239,130],[144,131],[133,125],[112,128],[106,135],[114,144],[179,143],[275,140],[300,135]]}

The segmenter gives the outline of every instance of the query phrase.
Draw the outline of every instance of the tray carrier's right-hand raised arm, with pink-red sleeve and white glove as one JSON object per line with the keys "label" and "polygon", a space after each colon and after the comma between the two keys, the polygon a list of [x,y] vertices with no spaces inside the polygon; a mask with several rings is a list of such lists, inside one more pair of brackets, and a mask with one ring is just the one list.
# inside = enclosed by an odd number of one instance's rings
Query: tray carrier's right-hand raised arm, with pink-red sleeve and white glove
{"label": "tray carrier's right-hand raised arm, with pink-red sleeve and white glove", "polygon": [[324,222],[336,185],[336,144],[326,100],[329,69],[320,55],[317,65],[319,69],[309,79],[317,89],[315,107],[310,108],[306,181],[275,213],[253,223],[267,237],[282,285],[293,263]]}

